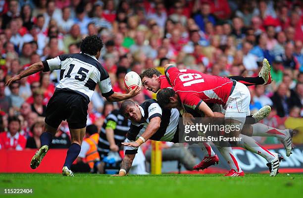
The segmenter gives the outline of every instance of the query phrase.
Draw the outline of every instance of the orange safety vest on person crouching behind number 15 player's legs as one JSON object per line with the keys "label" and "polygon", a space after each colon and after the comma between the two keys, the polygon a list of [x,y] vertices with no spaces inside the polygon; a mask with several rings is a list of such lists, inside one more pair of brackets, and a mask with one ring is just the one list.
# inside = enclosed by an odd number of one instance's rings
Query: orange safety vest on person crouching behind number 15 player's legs
{"label": "orange safety vest on person crouching behind number 15 player's legs", "polygon": [[91,168],[94,168],[95,161],[100,160],[100,155],[98,152],[99,137],[99,134],[95,133],[89,138],[84,139],[84,141],[90,145],[90,149],[87,151],[85,159]]}

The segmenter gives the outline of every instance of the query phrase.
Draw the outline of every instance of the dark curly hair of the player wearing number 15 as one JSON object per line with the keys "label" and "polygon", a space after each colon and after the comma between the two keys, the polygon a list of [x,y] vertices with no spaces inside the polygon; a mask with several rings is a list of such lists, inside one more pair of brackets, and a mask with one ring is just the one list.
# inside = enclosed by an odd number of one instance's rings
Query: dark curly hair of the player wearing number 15
{"label": "dark curly hair of the player wearing number 15", "polygon": [[88,53],[90,55],[97,55],[102,48],[103,42],[96,35],[86,36],[80,44],[80,50],[82,53]]}

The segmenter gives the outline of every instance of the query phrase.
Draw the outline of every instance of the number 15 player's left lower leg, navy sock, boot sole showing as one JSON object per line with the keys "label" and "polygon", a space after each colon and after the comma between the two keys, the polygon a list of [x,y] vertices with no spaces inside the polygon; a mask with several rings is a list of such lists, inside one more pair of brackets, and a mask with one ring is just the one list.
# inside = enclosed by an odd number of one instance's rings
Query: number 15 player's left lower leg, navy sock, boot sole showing
{"label": "number 15 player's left lower leg, navy sock, boot sole showing", "polygon": [[35,155],[33,156],[32,160],[31,160],[30,166],[32,169],[35,169],[40,165],[43,157],[49,151],[52,137],[54,137],[56,132],[57,132],[56,128],[53,128],[50,125],[48,125],[47,123],[45,123],[45,132],[40,137],[42,147],[36,151]]}

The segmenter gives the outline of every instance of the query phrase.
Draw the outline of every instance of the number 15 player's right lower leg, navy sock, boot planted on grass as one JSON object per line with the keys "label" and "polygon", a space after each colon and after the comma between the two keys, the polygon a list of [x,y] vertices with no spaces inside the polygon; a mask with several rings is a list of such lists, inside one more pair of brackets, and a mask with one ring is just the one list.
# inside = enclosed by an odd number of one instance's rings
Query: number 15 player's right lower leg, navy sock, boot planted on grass
{"label": "number 15 player's right lower leg, navy sock, boot planted on grass", "polygon": [[71,146],[67,150],[65,162],[62,169],[62,175],[63,176],[74,176],[74,173],[70,170],[70,166],[75,161],[75,159],[78,157],[80,150],[81,150],[81,144],[82,140],[85,135],[85,128],[82,129],[71,129],[70,128],[70,136],[71,136]]}

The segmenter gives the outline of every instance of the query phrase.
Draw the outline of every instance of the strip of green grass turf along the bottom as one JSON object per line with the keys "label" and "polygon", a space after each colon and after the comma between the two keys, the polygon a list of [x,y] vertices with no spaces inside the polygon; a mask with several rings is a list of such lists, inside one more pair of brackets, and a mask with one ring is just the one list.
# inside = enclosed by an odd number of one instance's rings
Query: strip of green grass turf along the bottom
{"label": "strip of green grass turf along the bottom", "polygon": [[[3,195],[4,188],[32,188],[32,195]],[[76,174],[0,174],[0,197],[40,198],[294,198],[303,194],[303,174],[148,175],[111,177]]]}

